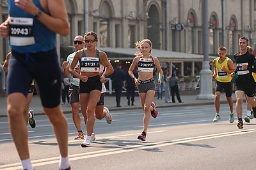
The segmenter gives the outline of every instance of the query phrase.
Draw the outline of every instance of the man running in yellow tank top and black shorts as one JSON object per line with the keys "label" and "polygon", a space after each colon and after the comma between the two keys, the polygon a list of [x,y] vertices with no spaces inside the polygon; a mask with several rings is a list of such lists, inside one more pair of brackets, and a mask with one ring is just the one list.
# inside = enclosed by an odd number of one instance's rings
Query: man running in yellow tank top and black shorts
{"label": "man running in yellow tank top and black shorts", "polygon": [[230,118],[229,122],[233,123],[234,113],[233,113],[233,100],[232,100],[232,84],[231,80],[232,77],[230,76],[230,73],[234,72],[234,63],[232,60],[230,60],[228,57],[226,57],[226,48],[225,46],[220,46],[218,48],[218,54],[219,57],[214,59],[214,70],[212,74],[212,78],[215,78],[216,80],[216,86],[215,86],[215,109],[216,109],[216,115],[213,122],[218,122],[220,117],[220,96],[223,89],[225,90],[226,98],[228,101],[228,105],[230,108]]}

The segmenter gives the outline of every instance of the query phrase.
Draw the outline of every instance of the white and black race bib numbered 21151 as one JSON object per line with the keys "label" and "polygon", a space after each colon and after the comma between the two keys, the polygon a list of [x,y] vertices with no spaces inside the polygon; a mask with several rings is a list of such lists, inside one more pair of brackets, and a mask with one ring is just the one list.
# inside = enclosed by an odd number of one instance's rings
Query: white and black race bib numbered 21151
{"label": "white and black race bib numbered 21151", "polygon": [[98,57],[82,57],[81,71],[99,72],[99,58]]}

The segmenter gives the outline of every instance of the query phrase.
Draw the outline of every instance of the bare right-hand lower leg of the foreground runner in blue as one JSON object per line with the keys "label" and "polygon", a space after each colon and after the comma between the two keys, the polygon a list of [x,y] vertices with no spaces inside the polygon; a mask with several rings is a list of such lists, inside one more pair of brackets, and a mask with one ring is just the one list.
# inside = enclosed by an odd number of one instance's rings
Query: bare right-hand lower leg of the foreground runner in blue
{"label": "bare right-hand lower leg of the foreground runner in blue", "polygon": [[61,157],[65,158],[68,156],[68,124],[67,119],[64,117],[61,106],[55,108],[44,108],[45,114],[49,118],[58,146],[60,148]]}

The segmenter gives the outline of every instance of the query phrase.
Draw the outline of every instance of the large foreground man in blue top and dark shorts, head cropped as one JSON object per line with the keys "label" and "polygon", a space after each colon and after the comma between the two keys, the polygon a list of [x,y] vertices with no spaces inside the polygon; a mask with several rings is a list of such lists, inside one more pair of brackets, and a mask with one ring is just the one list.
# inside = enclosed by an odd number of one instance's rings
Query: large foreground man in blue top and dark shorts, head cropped
{"label": "large foreground man in blue top and dark shorts, head cropped", "polygon": [[58,141],[59,167],[70,169],[68,124],[60,105],[61,69],[56,52],[56,33],[67,36],[70,31],[64,0],[9,0],[8,11],[8,18],[0,25],[0,34],[9,38],[12,48],[6,80],[7,112],[22,168],[34,169],[23,112],[28,89],[35,79],[45,115]]}

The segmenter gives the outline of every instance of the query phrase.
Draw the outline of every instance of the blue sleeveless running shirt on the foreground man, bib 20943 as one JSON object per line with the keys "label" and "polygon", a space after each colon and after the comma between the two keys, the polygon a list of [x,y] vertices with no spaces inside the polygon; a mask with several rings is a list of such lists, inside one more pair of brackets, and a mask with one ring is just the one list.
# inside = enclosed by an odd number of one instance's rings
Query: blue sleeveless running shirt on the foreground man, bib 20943
{"label": "blue sleeveless running shirt on the foreground man, bib 20943", "polygon": [[[33,0],[33,3],[47,13],[39,0]],[[49,30],[33,15],[15,6],[13,0],[8,0],[8,10],[10,13],[9,44],[15,52],[47,52],[56,47],[56,33]]]}

